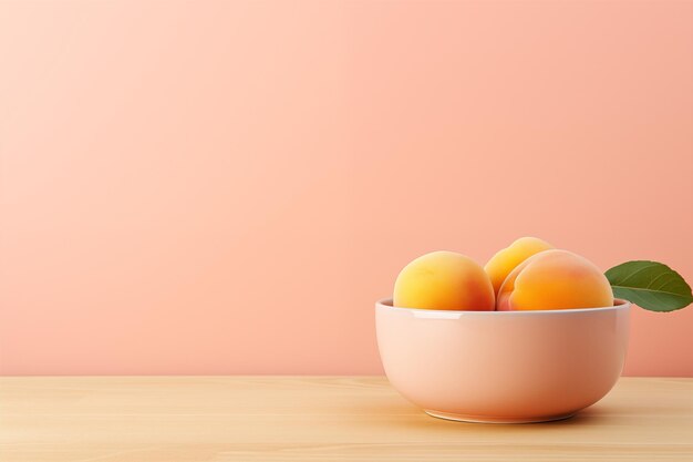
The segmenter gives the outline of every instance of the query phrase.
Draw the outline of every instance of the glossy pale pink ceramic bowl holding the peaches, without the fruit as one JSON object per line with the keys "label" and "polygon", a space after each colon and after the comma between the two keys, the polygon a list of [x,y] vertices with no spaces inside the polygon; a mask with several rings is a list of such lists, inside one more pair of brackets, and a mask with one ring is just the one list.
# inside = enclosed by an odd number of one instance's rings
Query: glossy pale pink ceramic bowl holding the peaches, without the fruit
{"label": "glossy pale pink ceramic bowl holding the peaches, without the fruit", "polygon": [[566,419],[599,401],[623,368],[630,304],[547,311],[439,311],[375,304],[392,386],[433,417]]}

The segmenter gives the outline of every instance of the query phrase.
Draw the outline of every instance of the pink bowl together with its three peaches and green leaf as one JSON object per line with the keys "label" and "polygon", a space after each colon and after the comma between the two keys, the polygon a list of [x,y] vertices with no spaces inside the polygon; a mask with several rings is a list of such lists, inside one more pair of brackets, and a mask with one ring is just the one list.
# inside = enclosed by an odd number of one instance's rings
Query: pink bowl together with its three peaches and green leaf
{"label": "pink bowl together with its three peaches and green leaf", "polygon": [[431,415],[563,419],[621,373],[631,306],[623,298],[658,311],[693,301],[665,265],[629,261],[602,274],[537,238],[518,239],[484,269],[436,251],[407,265],[394,299],[376,304],[379,350],[393,387]]}

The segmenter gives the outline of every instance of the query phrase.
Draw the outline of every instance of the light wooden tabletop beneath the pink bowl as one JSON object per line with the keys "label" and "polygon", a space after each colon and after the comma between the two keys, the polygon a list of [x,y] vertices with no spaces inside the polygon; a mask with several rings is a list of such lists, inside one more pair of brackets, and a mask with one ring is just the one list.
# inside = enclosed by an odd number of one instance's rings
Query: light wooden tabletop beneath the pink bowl
{"label": "light wooden tabletop beneath the pink bowl", "polygon": [[381,377],[0,379],[2,462],[353,460],[693,461],[693,379],[516,425],[431,418]]}

